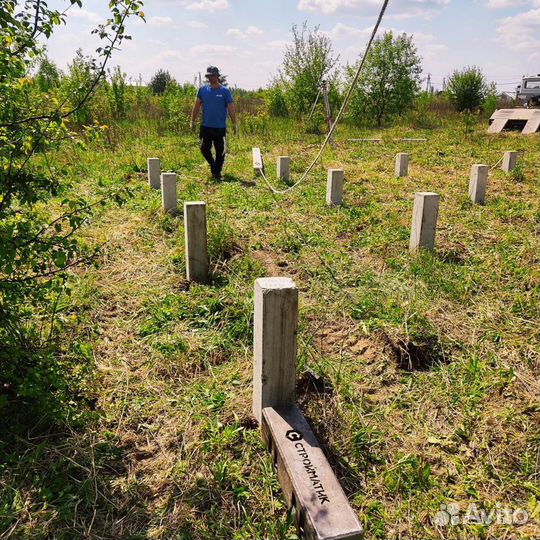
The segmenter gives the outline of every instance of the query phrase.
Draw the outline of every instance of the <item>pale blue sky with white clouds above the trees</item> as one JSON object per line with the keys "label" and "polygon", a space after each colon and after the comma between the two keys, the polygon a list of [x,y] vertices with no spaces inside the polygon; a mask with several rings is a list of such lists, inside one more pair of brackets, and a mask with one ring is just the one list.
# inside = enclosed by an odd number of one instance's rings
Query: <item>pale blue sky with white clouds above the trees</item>
{"label": "pale blue sky with white clouds above the trees", "polygon": [[[180,82],[193,81],[209,64],[243,88],[266,86],[291,39],[307,21],[332,39],[340,62],[364,49],[382,0],[146,0],[146,23],[132,21],[133,37],[111,66],[148,81],[159,68]],[[49,56],[64,69],[81,47],[98,45],[90,34],[107,14],[107,0],[83,0],[67,12],[67,25],[49,40]],[[65,7],[63,0],[49,1]],[[523,74],[540,73],[540,0],[390,0],[382,30],[414,35],[424,77],[440,88],[453,69],[478,65],[500,90],[513,91]]]}

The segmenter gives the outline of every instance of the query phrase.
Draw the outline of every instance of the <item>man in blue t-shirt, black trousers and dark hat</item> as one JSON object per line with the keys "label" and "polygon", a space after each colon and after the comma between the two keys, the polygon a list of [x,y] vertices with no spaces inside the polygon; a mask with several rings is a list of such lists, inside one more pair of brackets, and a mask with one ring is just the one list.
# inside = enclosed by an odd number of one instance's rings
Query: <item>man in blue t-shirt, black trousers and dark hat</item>
{"label": "man in blue t-shirt, black trousers and dark hat", "polygon": [[[190,123],[191,129],[194,130],[202,105],[203,114],[199,132],[201,153],[210,165],[210,171],[216,180],[221,180],[221,169],[225,162],[227,113],[231,117],[233,132],[236,134],[236,114],[232,95],[228,88],[220,84],[219,77],[219,69],[209,66],[206,70],[209,84],[201,86],[197,92]],[[212,144],[216,152],[215,157],[212,155]]]}

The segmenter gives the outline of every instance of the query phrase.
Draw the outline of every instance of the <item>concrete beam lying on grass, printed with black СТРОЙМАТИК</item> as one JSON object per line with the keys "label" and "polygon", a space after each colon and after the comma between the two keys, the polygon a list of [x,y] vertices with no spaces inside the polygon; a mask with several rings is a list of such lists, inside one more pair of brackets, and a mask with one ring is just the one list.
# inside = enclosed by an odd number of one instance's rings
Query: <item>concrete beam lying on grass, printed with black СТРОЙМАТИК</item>
{"label": "concrete beam lying on grass, printed with black \u0421\u0422\u0420\u041e\u0419\u041c\u0410\u0422\u0418\u041a", "polygon": [[263,409],[262,435],[285,501],[307,540],[361,540],[363,530],[315,435],[296,406]]}

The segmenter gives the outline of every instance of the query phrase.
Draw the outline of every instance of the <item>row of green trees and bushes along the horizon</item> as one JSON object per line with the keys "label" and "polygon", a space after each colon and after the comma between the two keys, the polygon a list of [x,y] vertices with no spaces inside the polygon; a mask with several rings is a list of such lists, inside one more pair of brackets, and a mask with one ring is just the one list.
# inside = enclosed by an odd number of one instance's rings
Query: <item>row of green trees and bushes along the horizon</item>
{"label": "row of green trees and bushes along the horizon", "polygon": [[[247,91],[235,87],[232,90],[241,99],[259,100],[264,106],[257,108],[258,113],[297,119],[309,117],[309,126],[316,128],[324,124],[322,106],[313,107],[322,81],[327,84],[330,107],[336,111],[360,60],[352,65],[340,65],[330,38],[319,27],[310,29],[306,23],[301,27],[295,25],[291,36],[278,73],[265,89]],[[414,36],[385,32],[373,42],[344,120],[357,126],[381,127],[435,98],[446,101],[458,112],[491,113],[496,107],[495,86],[488,84],[478,67],[450,73],[442,92],[421,90],[422,71]],[[94,76],[91,57],[85,57],[79,50],[66,73],[43,58],[34,79],[42,92],[65,95],[69,101],[76,102]],[[227,84],[225,77],[222,84]],[[144,117],[146,111],[163,118],[173,131],[182,132],[188,127],[184,116],[189,114],[197,86],[197,81],[177,82],[165,69],[158,69],[145,84],[140,77],[135,81],[128,79],[117,66],[102,78],[92,99],[78,109],[74,120],[85,125],[135,120]]]}

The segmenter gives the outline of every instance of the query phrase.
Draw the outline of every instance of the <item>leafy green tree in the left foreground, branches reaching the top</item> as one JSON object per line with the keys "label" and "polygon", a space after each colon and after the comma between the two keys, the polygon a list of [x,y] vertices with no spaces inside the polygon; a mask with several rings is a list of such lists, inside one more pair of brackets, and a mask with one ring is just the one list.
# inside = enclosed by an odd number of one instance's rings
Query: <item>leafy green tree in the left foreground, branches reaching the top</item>
{"label": "leafy green tree in the left foreground, branches reaching the top", "polygon": [[[70,0],[82,6],[82,0]],[[11,400],[67,404],[66,366],[59,365],[54,340],[59,299],[67,293],[68,270],[92,259],[76,232],[101,200],[70,197],[48,154],[66,139],[70,122],[91,98],[107,62],[126,35],[126,20],[143,17],[139,0],[111,0],[110,18],[95,33],[102,40],[95,77],[74,101],[45,95],[30,76],[44,58],[44,43],[66,15],[42,0],[0,4],[0,409]],[[38,159],[39,158],[39,159]],[[54,205],[50,200],[62,198]],[[37,354],[43,351],[43,354]]]}

